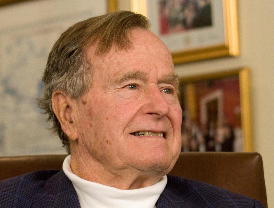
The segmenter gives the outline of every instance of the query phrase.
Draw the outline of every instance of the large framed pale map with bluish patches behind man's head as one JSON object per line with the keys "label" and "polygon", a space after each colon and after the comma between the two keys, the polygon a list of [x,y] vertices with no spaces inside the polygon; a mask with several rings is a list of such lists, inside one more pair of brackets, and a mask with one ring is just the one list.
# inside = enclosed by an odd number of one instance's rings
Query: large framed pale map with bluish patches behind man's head
{"label": "large framed pale map with bluish patches behind man's head", "polygon": [[115,1],[0,0],[0,5],[0,156],[64,154],[36,103],[47,57],[69,26],[114,11]]}

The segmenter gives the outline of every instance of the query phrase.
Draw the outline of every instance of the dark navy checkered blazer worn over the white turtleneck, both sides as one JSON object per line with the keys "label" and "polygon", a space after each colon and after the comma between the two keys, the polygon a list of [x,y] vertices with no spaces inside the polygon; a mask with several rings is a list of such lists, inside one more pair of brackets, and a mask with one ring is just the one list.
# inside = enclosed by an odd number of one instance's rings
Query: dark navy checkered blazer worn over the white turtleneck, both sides
{"label": "dark navy checkered blazer worn over the white turtleneck, both sides", "polygon": [[[168,176],[156,206],[263,207],[256,199],[177,176]],[[0,181],[0,207],[77,208],[80,203],[63,170],[42,170]]]}

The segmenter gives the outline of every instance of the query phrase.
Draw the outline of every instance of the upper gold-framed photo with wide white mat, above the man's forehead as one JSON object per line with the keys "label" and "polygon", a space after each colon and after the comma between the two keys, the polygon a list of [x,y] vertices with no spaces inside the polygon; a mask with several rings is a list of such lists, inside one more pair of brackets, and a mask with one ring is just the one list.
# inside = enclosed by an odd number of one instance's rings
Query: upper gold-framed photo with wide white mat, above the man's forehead
{"label": "upper gold-framed photo with wide white mat, above the man's forehead", "polygon": [[131,0],[174,64],[239,55],[236,0]]}

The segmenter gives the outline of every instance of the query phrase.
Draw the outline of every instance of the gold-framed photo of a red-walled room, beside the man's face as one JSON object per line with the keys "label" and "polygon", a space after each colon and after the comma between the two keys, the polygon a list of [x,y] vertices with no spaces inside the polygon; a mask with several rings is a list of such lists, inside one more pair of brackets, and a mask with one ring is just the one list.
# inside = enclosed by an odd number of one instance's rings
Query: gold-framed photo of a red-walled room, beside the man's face
{"label": "gold-framed photo of a red-walled room, beside the man's face", "polygon": [[180,79],[182,151],[252,151],[249,70]]}

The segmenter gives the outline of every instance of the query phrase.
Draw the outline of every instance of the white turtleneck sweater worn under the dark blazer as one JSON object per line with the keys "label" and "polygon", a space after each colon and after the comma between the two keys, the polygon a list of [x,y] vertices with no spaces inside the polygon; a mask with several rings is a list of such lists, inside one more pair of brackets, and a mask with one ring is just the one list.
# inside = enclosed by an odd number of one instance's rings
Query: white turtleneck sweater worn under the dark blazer
{"label": "white turtleneck sweater worn under the dark blazer", "polygon": [[76,190],[81,208],[156,208],[156,201],[167,183],[167,177],[163,176],[158,183],[153,184],[152,186],[122,190],[87,181],[72,173],[70,169],[70,155],[68,155],[63,162],[63,171]]}

